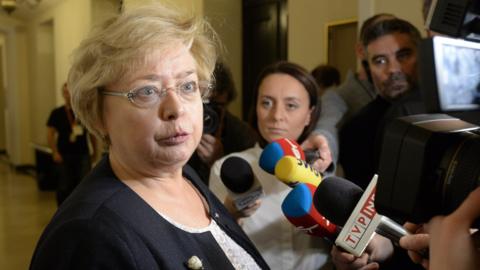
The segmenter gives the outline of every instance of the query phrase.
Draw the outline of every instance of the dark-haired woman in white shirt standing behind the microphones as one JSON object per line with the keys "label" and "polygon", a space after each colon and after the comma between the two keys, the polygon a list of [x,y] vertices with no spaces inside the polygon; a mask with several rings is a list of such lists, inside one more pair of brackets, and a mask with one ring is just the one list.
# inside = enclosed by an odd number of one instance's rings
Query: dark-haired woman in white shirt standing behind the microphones
{"label": "dark-haired woman in white shirt standing behind the microphones", "polygon": [[[256,87],[250,123],[260,135],[259,143],[240,153],[232,153],[215,162],[210,173],[210,189],[224,200],[230,212],[239,218],[242,228],[252,239],[272,269],[319,269],[331,266],[330,245],[311,237],[289,223],[281,204],[291,188],[258,164],[263,148],[273,140],[288,138],[302,143],[313,129],[320,107],[318,86],[304,68],[277,62],[260,74]],[[264,197],[243,211],[238,211],[220,178],[225,159],[244,159],[262,185]]]}

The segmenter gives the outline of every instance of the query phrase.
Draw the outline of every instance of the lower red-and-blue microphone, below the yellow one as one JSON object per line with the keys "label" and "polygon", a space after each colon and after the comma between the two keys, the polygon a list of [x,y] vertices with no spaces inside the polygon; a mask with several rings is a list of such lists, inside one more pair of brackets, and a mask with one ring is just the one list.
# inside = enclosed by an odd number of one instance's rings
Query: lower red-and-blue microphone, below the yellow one
{"label": "lower red-and-blue microphone, below the yellow one", "polygon": [[300,183],[295,186],[283,200],[282,212],[297,229],[333,242],[340,228],[313,206],[315,189],[316,186],[311,184]]}

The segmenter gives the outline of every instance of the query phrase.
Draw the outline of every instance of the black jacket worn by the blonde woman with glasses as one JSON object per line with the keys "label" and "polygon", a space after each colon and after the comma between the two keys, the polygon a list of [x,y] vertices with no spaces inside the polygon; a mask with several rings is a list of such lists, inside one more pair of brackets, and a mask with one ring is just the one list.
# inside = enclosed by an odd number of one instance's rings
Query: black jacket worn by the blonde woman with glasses
{"label": "black jacket worn by the blonde woman with glasses", "polygon": [[[267,264],[195,172],[184,176],[205,198],[211,218],[262,269]],[[60,206],[43,232],[30,269],[233,269],[210,232],[188,233],[160,216],[113,173],[104,157]]]}

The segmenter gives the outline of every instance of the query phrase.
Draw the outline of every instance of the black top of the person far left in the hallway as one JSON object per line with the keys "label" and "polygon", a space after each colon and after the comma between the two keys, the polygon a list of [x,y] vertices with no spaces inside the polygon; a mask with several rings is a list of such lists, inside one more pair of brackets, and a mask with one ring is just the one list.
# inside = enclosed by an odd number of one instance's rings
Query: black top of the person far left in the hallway
{"label": "black top of the person far left in the hallway", "polygon": [[57,150],[61,155],[84,155],[88,154],[87,130],[83,129],[83,135],[77,136],[74,142],[70,142],[72,125],[70,121],[75,121],[73,111],[70,109],[71,120],[68,119],[65,106],[54,109],[48,117],[47,126],[52,127],[58,132]]}

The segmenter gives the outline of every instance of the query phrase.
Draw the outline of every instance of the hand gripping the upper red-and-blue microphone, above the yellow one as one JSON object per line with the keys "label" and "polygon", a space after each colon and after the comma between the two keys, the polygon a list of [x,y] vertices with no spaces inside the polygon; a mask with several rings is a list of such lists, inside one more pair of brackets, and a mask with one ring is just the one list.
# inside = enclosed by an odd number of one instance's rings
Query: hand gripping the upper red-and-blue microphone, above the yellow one
{"label": "hand gripping the upper red-and-blue microphone, above the yellow one", "polygon": [[301,146],[303,149],[316,149],[320,154],[319,159],[312,164],[312,167],[317,171],[324,172],[332,163],[332,153],[325,136],[315,133],[310,134]]}

